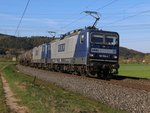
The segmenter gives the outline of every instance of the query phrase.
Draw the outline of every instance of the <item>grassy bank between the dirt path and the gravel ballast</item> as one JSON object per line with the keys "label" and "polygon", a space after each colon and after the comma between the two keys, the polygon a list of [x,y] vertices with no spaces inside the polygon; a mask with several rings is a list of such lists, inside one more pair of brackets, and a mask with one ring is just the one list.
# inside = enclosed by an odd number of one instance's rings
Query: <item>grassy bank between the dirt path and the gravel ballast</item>
{"label": "grassy bank between the dirt path and the gravel ballast", "polygon": [[38,79],[33,83],[33,77],[18,72],[15,65],[2,72],[21,100],[19,104],[27,106],[31,113],[126,113]]}

